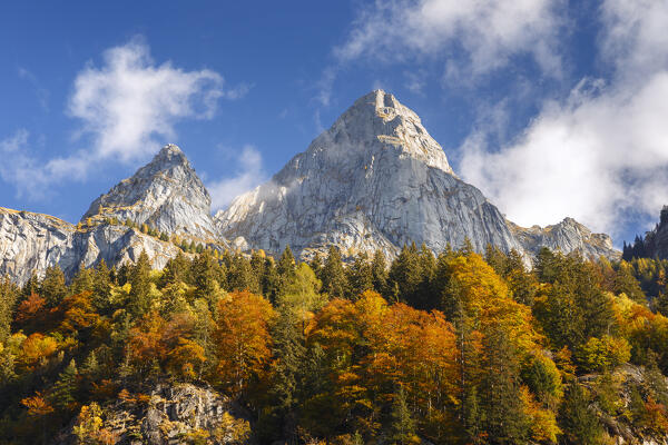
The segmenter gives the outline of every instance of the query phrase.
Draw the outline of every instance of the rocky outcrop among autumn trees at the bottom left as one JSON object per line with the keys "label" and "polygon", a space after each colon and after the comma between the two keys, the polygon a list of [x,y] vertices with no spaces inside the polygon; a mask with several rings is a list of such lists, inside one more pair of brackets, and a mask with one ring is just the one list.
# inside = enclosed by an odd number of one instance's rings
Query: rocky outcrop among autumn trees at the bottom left
{"label": "rocky outcrop among autumn trees at the bottom left", "polygon": [[[205,438],[212,445],[250,443],[247,417],[244,409],[208,385],[158,384],[147,399],[128,395],[105,406],[97,433],[126,445],[205,443]],[[60,445],[77,443],[73,427],[53,441]]]}

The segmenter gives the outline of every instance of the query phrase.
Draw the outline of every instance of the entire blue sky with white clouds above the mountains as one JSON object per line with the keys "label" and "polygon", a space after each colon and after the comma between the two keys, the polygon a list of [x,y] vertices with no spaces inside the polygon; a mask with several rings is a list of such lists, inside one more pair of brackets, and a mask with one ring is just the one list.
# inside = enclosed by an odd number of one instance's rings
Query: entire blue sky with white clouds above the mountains
{"label": "entire blue sky with white clouds above the mountains", "polygon": [[510,219],[620,245],[668,204],[666,29],[661,0],[7,2],[0,206],[76,221],[176,142],[224,207],[383,88]]}

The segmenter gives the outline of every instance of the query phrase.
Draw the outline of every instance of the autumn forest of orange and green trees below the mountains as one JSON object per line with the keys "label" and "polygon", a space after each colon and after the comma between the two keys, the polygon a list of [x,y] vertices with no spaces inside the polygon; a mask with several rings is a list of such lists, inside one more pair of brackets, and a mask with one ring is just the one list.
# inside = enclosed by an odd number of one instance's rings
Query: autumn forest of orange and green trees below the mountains
{"label": "autumn forest of orange and green trees below the mountains", "polygon": [[[114,443],[107,407],[156,382],[248,413],[226,443],[609,444],[668,434],[667,261],[414,244],[344,263],[289,247],[161,270],[0,280],[0,444]],[[38,427],[36,427],[38,426]],[[184,443],[216,443],[191,435]]]}

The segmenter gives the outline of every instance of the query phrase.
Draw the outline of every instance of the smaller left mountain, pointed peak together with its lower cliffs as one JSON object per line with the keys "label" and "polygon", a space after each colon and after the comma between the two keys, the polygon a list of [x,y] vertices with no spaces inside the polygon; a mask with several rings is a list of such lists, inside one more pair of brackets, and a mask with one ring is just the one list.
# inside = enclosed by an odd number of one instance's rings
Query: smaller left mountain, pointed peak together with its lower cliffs
{"label": "smaller left mountain, pointed peak together with its lower cliffs", "polygon": [[[124,224],[132,222],[132,227]],[[153,235],[138,226],[146,224]],[[154,231],[155,230],[155,231]],[[157,235],[167,237],[159,239]],[[48,215],[0,208],[0,276],[26,283],[58,265],[72,277],[80,265],[134,263],[143,250],[161,268],[181,249],[170,239],[218,249],[227,245],[210,216],[210,197],[183,151],[164,147],[131,178],[97,198],[78,225]]]}

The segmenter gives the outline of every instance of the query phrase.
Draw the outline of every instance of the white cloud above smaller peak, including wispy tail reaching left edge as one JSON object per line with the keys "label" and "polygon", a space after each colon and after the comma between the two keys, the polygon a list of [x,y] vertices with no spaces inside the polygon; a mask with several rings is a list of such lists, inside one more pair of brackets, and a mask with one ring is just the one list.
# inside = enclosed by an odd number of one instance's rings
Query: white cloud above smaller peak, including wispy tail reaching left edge
{"label": "white cloud above smaller peak, including wispy tail reaching left edge", "polygon": [[[19,73],[33,79],[27,70]],[[67,112],[80,122],[73,142],[85,148],[40,161],[30,151],[28,131],[20,130],[2,142],[10,155],[0,174],[19,194],[38,199],[39,188],[85,180],[102,164],[146,159],[166,140],[178,139],[178,122],[212,119],[222,98],[242,98],[250,88],[226,88],[223,77],[208,69],[157,65],[145,41],[132,39],[105,51],[101,66],[89,62],[75,79]]]}

